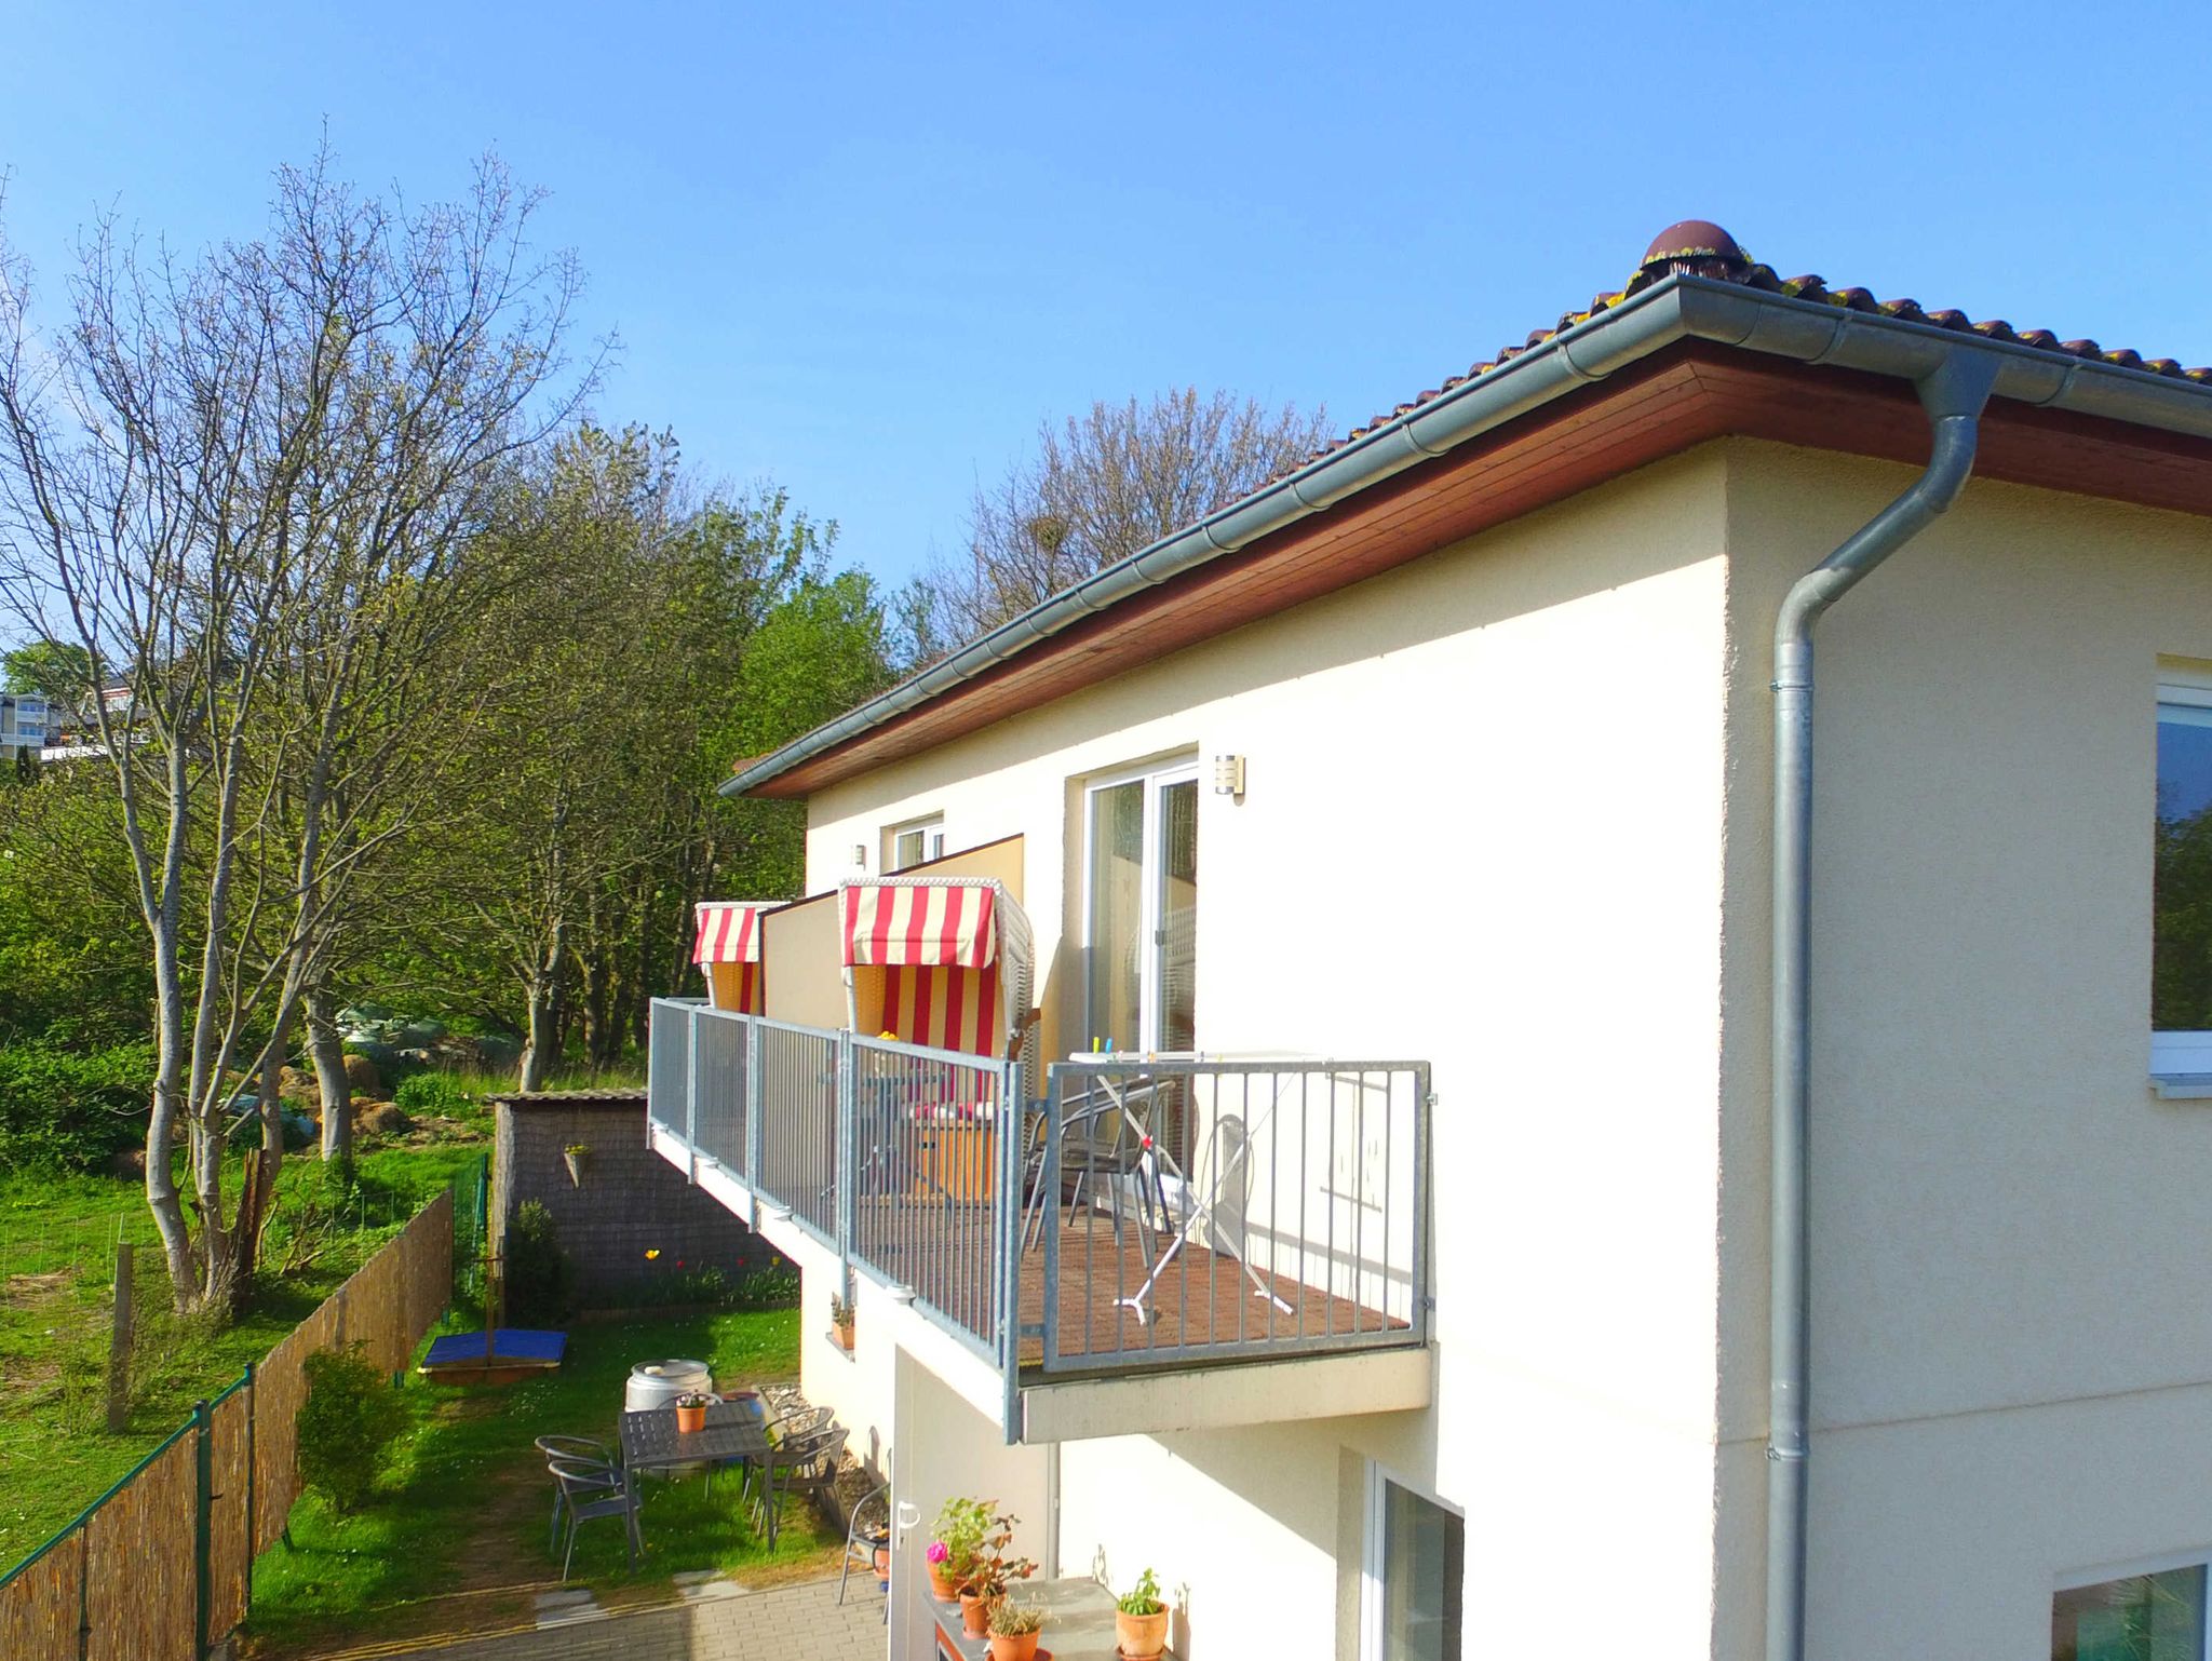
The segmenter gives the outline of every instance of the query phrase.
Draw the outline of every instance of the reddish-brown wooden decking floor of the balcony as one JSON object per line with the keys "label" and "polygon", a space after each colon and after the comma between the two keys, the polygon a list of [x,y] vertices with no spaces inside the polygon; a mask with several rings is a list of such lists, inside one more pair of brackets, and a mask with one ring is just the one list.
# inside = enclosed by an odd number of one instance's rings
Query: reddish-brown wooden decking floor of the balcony
{"label": "reddish-brown wooden decking floor of the balcony", "polygon": [[[1144,1298],[1146,1318],[1124,1298],[1135,1298],[1172,1234],[1152,1234],[1124,1219],[1119,1236],[1110,1216],[1082,1210],[1062,1212],[1057,1340],[1062,1367],[1159,1365],[1206,1360],[1221,1347],[1223,1358],[1265,1347],[1276,1356],[1325,1351],[1345,1340],[1387,1343],[1380,1334],[1407,1334],[1402,1318],[1369,1309],[1318,1287],[1267,1270],[1245,1272],[1228,1252],[1197,1241],[1183,1245],[1159,1272]],[[984,1331],[991,1314],[987,1263],[991,1261],[991,1212],[980,1205],[936,1205],[894,1199],[863,1201],[856,1216],[858,1254],[894,1281],[942,1309],[969,1331]],[[911,1265],[911,1272],[909,1267]],[[958,1272],[967,1265],[967,1274]],[[1290,1305],[1285,1314],[1254,1285],[1267,1285]],[[1044,1320],[1044,1250],[1022,1252],[1018,1312],[1022,1325]],[[1042,1367],[1044,1345],[1024,1338],[1022,1367]]]}

